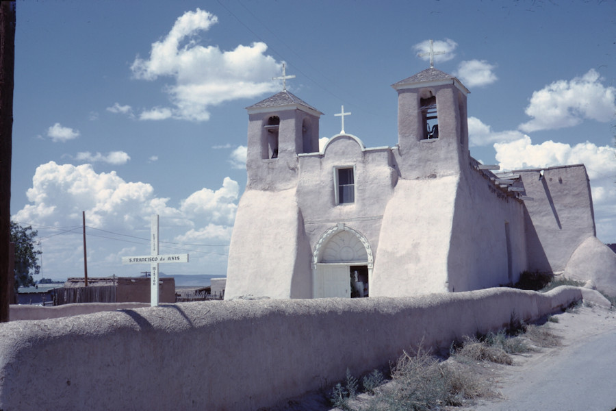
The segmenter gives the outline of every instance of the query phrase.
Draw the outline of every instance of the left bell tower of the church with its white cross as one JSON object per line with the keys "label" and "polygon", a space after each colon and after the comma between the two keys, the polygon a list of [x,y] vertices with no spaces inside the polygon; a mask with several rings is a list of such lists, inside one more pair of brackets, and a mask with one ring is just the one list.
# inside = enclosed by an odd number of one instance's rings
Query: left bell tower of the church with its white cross
{"label": "left bell tower of the church with its white cross", "polygon": [[319,117],[316,108],[287,90],[286,64],[282,75],[283,90],[247,107],[248,147],[246,171],[248,188],[284,190],[296,185],[297,155],[319,151]]}

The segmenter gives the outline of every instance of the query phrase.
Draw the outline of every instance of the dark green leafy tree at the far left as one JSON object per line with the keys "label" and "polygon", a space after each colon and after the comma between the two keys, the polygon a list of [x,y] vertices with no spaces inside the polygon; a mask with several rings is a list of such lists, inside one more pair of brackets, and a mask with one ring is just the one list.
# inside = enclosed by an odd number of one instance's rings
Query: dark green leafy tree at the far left
{"label": "dark green leafy tree at the far left", "polygon": [[15,290],[21,286],[34,286],[33,275],[40,273],[38,255],[34,249],[34,238],[38,232],[31,225],[22,227],[11,221],[11,242],[15,243]]}

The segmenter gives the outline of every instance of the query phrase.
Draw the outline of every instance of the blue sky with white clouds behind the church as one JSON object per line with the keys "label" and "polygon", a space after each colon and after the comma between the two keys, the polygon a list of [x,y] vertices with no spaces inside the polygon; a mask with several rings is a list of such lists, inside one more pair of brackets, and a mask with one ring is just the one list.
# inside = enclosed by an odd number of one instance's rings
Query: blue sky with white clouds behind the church
{"label": "blue sky with white clouds behind the church", "polygon": [[[429,67],[470,90],[471,155],[501,170],[584,163],[616,242],[615,1],[17,1],[12,219],[40,277],[139,275],[159,215],[167,275],[226,275],[246,186],[245,108],[282,89],[394,146],[392,84]],[[40,279],[39,276],[35,278]]]}

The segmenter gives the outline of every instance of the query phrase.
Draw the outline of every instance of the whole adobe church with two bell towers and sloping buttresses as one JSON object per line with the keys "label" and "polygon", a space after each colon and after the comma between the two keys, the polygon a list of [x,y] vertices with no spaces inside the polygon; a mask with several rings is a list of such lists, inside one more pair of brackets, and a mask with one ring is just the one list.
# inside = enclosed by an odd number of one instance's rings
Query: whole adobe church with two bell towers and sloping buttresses
{"label": "whole adobe church with two bell towers and sloping buttresses", "polygon": [[606,278],[595,281],[613,281],[616,254],[595,237],[584,165],[495,174],[470,155],[459,79],[431,66],[392,87],[393,147],[345,133],[342,110],[343,131],[320,150],[322,112],[286,86],[247,108],[248,182],[225,299],[459,292],[522,271],[585,280],[597,265]]}

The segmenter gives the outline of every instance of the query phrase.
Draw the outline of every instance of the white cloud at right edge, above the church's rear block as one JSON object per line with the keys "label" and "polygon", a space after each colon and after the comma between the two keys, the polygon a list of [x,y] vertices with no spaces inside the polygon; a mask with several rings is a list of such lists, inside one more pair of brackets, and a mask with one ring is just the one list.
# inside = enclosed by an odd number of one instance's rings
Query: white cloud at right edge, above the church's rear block
{"label": "white cloud at right edge, above the church's rear block", "polygon": [[532,93],[525,110],[532,120],[519,125],[523,132],[559,129],[584,120],[611,121],[616,115],[616,88],[604,86],[597,71],[559,80]]}

